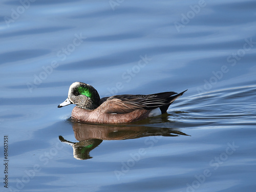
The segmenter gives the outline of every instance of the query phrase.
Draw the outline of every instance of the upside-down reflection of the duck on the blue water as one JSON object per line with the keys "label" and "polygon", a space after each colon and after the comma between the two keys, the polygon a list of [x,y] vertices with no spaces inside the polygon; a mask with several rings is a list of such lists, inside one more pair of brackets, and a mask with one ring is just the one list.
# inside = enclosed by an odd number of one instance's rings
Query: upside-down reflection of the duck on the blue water
{"label": "upside-down reflection of the duck on the blue water", "polygon": [[[79,160],[91,159],[90,151],[95,149],[103,140],[124,140],[148,136],[180,136],[187,135],[177,128],[160,128],[146,126],[117,126],[117,125],[90,125],[73,123],[76,140],[71,142],[59,136],[61,142],[73,147],[74,158]],[[188,135],[189,136],[189,135]]]}

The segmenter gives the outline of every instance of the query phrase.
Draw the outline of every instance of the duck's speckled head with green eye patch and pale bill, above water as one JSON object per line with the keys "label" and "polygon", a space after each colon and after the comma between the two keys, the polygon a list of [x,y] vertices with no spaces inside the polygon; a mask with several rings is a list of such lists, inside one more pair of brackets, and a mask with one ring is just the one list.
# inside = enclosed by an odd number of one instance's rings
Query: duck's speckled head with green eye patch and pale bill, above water
{"label": "duck's speckled head with green eye patch and pale bill, above water", "polygon": [[99,106],[99,102],[100,97],[95,88],[86,83],[75,82],[70,85],[67,100],[59,104],[58,107],[75,104],[77,107],[92,110]]}

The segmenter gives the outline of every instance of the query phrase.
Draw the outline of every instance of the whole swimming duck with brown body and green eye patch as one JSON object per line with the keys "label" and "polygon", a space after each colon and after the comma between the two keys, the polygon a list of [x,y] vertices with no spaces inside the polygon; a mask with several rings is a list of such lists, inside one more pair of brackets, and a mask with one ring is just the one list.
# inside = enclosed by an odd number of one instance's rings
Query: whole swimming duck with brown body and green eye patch
{"label": "whole swimming duck with brown body and green eye patch", "polygon": [[100,99],[93,86],[74,82],[69,88],[67,100],[59,104],[58,108],[75,104],[71,118],[79,123],[126,124],[166,113],[169,105],[185,91],[121,94]]}

